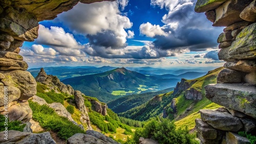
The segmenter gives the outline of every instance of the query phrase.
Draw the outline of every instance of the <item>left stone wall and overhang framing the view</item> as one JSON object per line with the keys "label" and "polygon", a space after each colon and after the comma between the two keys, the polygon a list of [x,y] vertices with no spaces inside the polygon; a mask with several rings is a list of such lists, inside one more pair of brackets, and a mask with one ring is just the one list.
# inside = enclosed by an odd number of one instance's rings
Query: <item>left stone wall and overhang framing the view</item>
{"label": "left stone wall and overhang framing the view", "polygon": [[[90,4],[103,0],[81,0]],[[115,0],[106,0],[115,1]],[[11,120],[24,123],[32,117],[27,100],[36,94],[36,81],[26,71],[28,64],[19,55],[24,41],[38,37],[38,21],[54,19],[57,14],[72,9],[79,0],[14,1],[0,3],[0,112],[9,112]],[[5,111],[4,86],[8,86],[8,111]],[[69,87],[65,90],[73,93]],[[70,91],[71,90],[71,91]],[[68,92],[68,91],[67,91]],[[6,105],[7,106],[7,105]]]}

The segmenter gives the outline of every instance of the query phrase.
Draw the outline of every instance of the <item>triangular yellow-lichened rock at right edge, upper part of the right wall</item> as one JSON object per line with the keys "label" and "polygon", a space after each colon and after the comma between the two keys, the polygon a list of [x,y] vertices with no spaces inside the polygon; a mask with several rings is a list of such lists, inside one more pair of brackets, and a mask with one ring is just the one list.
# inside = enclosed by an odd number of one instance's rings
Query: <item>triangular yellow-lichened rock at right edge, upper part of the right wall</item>
{"label": "triangular yellow-lichened rock at right edge, upper part of the right wall", "polygon": [[228,54],[232,59],[245,60],[256,58],[256,23],[244,28],[232,42]]}

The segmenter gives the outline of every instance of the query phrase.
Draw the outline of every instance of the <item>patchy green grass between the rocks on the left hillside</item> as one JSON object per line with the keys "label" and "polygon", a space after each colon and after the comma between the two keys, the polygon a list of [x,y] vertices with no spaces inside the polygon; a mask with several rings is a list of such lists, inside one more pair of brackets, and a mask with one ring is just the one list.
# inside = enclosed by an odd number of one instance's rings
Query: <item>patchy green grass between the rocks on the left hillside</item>
{"label": "patchy green grass between the rocks on the left hillside", "polygon": [[[63,93],[54,93],[52,91],[44,92],[45,90],[49,90],[49,88],[46,85],[37,83],[37,95],[39,95],[39,97],[41,97],[43,99],[47,99],[48,103],[61,102],[63,104],[63,106],[65,106],[66,108],[70,105],[75,107],[74,96],[73,95],[67,95],[67,94],[63,94]],[[54,97],[49,97],[50,95],[54,95]],[[103,115],[93,111],[92,108],[91,108],[92,104],[90,103],[89,99],[96,100],[96,101],[98,101],[98,100],[96,98],[87,97],[87,96],[84,96],[84,98],[85,98],[85,104],[88,106],[87,108],[88,108],[89,115],[91,115],[92,117],[95,117],[94,119],[100,120],[100,121],[97,121],[97,123],[94,121],[95,124],[91,121],[92,127],[93,127],[94,130],[102,132],[106,136],[112,135],[114,137],[114,139],[119,140],[119,142],[122,142],[121,140],[125,141],[127,139],[127,136],[128,137],[132,136],[131,133],[129,133],[127,131],[132,131],[135,128],[121,123],[117,114],[112,112],[110,109],[108,110],[109,114],[106,115],[106,116],[103,116]],[[90,103],[90,104],[88,104],[88,103]],[[55,128],[55,126],[54,127],[50,126],[50,123],[48,122],[48,119],[50,119],[50,121],[55,121],[55,119],[56,119],[56,121],[58,121],[58,119],[63,118],[63,119],[65,119],[65,121],[61,122],[61,125],[62,125],[63,128],[66,128],[65,126],[67,126],[67,125],[70,125],[71,127],[77,127],[73,123],[71,123],[71,122],[69,123],[67,121],[67,118],[56,115],[55,112],[44,111],[42,108],[40,108],[41,106],[37,105],[36,103],[33,103],[33,102],[30,101],[30,105],[31,105],[31,107],[33,107],[32,108],[32,110],[33,110],[33,119],[35,121],[39,122],[40,126],[42,126],[44,128],[47,128],[49,130],[53,130],[54,132],[58,133],[58,136],[60,136],[61,139],[67,139],[68,137],[70,137],[70,134],[65,134],[65,131],[63,131],[61,129],[60,129],[61,132],[59,132],[58,129]],[[45,109],[51,109],[51,108],[45,108]],[[71,114],[72,118],[74,119],[74,121],[78,125],[82,124],[84,128],[87,128],[87,124],[81,123],[80,115],[81,115],[81,112],[75,107],[74,108],[74,113]],[[53,117],[55,117],[55,118],[53,118]],[[108,128],[108,125],[107,125],[108,123],[115,124],[116,125],[116,127],[115,127],[116,130],[115,131],[110,130]],[[99,129],[96,126],[96,125],[100,125],[100,124],[105,124],[104,130]],[[78,130],[78,132],[85,133],[84,131],[81,131],[80,128],[78,128],[77,130]],[[68,129],[66,129],[66,131],[68,131]],[[103,131],[105,131],[105,132],[103,132]],[[75,131],[72,131],[71,134],[74,134],[74,132]],[[124,132],[126,132],[126,133],[124,133]]]}

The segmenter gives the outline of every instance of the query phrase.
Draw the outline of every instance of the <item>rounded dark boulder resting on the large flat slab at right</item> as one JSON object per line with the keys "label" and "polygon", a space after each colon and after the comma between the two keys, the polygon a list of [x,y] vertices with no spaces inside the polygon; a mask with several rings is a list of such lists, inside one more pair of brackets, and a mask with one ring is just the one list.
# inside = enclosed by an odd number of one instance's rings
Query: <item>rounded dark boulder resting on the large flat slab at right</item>
{"label": "rounded dark boulder resting on the large flat slab at right", "polygon": [[218,83],[240,83],[244,74],[240,71],[224,68],[220,71],[217,82]]}

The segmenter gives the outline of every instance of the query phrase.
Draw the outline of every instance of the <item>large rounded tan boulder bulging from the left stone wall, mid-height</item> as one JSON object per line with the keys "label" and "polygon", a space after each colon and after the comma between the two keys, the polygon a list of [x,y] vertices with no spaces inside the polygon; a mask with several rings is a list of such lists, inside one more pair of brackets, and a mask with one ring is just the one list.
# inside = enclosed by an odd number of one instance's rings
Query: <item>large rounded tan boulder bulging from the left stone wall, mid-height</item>
{"label": "large rounded tan boulder bulging from the left stone wall, mid-height", "polygon": [[28,100],[36,94],[36,81],[28,71],[12,70],[0,73],[5,76],[1,81],[6,86],[15,86],[20,90],[19,100]]}

